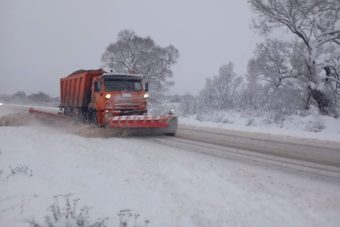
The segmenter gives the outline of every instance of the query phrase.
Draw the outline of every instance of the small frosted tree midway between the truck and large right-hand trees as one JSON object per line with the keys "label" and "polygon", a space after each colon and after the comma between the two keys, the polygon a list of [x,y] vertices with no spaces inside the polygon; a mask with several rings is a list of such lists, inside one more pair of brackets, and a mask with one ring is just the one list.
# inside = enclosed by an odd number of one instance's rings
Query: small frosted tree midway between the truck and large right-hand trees
{"label": "small frosted tree midway between the truck and large right-hand trees", "polygon": [[208,78],[204,89],[200,92],[201,109],[212,108],[225,110],[233,108],[242,78],[234,72],[233,63],[222,65],[219,74]]}

